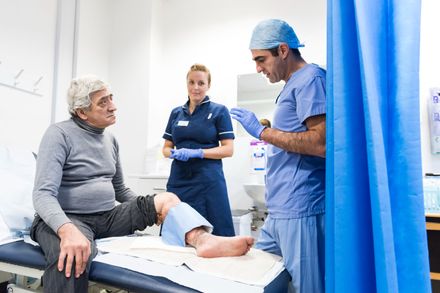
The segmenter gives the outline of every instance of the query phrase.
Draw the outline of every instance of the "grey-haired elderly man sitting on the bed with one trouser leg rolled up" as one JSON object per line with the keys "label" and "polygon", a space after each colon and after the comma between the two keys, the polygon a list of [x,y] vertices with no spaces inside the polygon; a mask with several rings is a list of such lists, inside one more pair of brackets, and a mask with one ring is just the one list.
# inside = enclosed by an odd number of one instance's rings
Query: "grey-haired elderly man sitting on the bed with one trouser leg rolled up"
{"label": "grey-haired elderly man sitting on the bed with one trouser leg rolled up", "polygon": [[105,131],[116,121],[116,106],[104,82],[74,79],[68,105],[72,117],[48,128],[37,159],[31,237],[46,257],[45,292],[87,292],[95,239],[162,222],[167,243],[194,246],[202,257],[250,249],[251,237],[210,234],[212,226],[172,193],[137,196],[125,187],[118,143]]}

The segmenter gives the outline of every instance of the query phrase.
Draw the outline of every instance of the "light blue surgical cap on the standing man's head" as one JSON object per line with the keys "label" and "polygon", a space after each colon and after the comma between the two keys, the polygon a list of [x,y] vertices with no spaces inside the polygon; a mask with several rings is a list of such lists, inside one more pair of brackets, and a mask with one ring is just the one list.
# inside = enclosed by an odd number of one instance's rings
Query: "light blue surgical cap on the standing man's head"
{"label": "light blue surgical cap on the standing man's head", "polygon": [[290,48],[304,47],[292,27],[280,19],[263,20],[254,28],[249,49],[271,49],[286,43]]}

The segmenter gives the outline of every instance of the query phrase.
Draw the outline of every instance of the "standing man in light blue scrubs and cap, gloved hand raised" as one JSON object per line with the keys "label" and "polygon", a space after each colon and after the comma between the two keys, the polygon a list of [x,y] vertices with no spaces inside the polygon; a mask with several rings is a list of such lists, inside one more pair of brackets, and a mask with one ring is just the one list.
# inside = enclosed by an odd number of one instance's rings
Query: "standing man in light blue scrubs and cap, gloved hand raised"
{"label": "standing man in light blue scrubs and cap, gloved hand raised", "polygon": [[264,20],[249,48],[257,72],[286,84],[275,100],[272,127],[255,114],[233,108],[232,118],[269,143],[266,206],[269,215],[256,248],[281,255],[294,292],[324,292],[325,71],[307,63],[294,30]]}

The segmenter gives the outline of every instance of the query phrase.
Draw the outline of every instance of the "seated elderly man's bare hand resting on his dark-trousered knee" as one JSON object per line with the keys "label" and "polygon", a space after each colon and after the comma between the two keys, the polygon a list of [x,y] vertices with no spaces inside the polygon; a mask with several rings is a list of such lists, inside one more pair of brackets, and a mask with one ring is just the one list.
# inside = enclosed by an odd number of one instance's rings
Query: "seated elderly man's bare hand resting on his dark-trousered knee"
{"label": "seated elderly man's bare hand resting on his dark-trousered knee", "polygon": [[65,262],[66,278],[69,278],[72,273],[73,262],[75,261],[75,277],[79,278],[86,270],[87,261],[91,254],[90,241],[72,223],[62,225],[58,229],[58,236],[61,239],[58,270],[60,272],[63,271]]}

